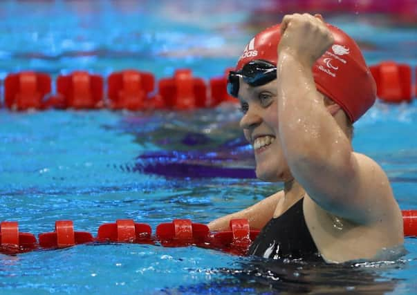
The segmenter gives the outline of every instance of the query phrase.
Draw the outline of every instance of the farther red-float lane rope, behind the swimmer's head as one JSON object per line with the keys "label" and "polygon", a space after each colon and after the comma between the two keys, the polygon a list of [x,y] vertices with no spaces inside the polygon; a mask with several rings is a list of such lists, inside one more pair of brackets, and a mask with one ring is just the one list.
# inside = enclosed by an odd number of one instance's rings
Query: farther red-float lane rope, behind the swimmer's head
{"label": "farther red-float lane rope, behind the swimmer's head", "polygon": [[[238,102],[226,91],[230,69],[226,69],[223,76],[210,79],[208,84],[204,79],[194,77],[189,68],[178,69],[173,77],[158,82],[152,73],[122,70],[111,73],[106,83],[101,75],[77,70],[57,77],[56,93],[51,92],[53,81],[50,75],[22,71],[6,76],[4,106],[13,111],[48,108],[185,111],[212,108],[222,102]],[[382,61],[369,69],[376,80],[377,95],[381,101],[411,102],[417,96],[417,83],[411,81],[413,70],[408,64]],[[417,79],[417,68],[414,71]]]}

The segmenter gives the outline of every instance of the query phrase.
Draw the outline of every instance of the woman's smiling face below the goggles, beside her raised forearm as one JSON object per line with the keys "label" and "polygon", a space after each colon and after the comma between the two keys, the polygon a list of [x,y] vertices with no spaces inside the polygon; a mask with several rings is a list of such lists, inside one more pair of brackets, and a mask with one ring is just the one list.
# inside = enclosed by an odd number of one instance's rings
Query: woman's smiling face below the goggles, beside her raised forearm
{"label": "woman's smiling face below the goggles, beside her raised forearm", "polygon": [[243,112],[240,126],[254,149],[257,178],[269,182],[291,180],[279,140],[277,79],[252,87],[240,78],[239,85]]}

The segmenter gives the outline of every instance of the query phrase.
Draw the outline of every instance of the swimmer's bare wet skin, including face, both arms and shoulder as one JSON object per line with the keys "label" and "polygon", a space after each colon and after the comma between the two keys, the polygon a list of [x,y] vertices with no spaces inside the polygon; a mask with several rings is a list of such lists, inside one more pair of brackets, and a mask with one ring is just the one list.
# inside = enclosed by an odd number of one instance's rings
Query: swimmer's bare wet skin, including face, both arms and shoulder
{"label": "swimmer's bare wet skin, including face, both arms and shoulder", "polygon": [[353,152],[346,114],[337,104],[326,106],[315,87],[311,68],[332,43],[319,17],[288,15],[281,23],[277,79],[258,87],[239,81],[241,127],[254,146],[257,176],[282,181],[285,189],[210,222],[210,229],[227,227],[231,218],[260,228],[304,198],[307,227],[328,262],[373,259],[402,245],[402,216],[387,175]]}

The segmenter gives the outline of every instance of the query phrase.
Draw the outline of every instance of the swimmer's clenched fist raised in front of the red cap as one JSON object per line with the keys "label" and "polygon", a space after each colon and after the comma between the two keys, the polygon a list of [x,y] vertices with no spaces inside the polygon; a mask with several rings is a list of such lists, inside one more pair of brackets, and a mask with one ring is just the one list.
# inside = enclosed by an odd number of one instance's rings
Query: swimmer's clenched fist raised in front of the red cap
{"label": "swimmer's clenched fist raised in front of the red cap", "polygon": [[281,22],[278,55],[290,54],[303,64],[313,66],[333,41],[321,15],[286,15]]}

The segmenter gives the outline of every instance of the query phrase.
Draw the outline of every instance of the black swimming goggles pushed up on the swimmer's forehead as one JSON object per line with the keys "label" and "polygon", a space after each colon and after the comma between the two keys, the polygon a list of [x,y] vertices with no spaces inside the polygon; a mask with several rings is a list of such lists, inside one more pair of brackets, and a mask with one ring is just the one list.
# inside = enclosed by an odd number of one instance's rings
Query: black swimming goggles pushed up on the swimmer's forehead
{"label": "black swimming goggles pushed up on the swimmer's forehead", "polygon": [[257,59],[249,61],[241,70],[231,70],[228,77],[228,93],[237,97],[239,77],[252,87],[261,86],[277,79],[277,67],[268,61]]}

